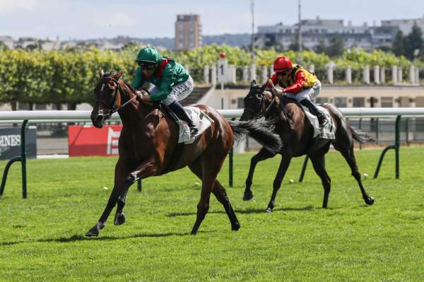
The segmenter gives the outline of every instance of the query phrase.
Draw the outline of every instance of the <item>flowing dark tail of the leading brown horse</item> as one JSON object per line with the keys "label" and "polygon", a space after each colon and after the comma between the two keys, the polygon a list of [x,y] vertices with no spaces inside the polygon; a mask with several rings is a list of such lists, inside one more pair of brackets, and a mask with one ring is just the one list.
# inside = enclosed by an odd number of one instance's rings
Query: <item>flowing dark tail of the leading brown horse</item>
{"label": "flowing dark tail of the leading brown horse", "polygon": [[262,146],[273,153],[280,151],[282,142],[278,134],[273,132],[273,123],[266,119],[252,119],[247,121],[228,121],[235,140],[238,141],[246,134],[258,141]]}

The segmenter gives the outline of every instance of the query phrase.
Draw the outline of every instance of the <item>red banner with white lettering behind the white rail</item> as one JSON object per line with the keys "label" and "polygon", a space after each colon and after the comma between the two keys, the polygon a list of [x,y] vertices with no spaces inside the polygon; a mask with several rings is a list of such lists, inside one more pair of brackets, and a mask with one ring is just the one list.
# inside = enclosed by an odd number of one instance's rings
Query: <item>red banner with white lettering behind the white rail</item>
{"label": "red banner with white lettering behind the white rail", "polygon": [[72,125],[68,127],[69,156],[118,155],[118,140],[122,125],[93,126]]}

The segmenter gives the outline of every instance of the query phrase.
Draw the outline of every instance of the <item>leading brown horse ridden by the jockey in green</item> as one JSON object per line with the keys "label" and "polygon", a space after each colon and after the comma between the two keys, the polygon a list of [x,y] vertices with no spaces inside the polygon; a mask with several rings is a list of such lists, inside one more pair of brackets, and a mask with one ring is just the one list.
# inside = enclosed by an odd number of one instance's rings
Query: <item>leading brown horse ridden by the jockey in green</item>
{"label": "leading brown horse ridden by the jockey in green", "polygon": [[175,121],[151,103],[137,100],[134,90],[120,79],[121,76],[122,72],[114,75],[101,71],[94,90],[93,125],[101,128],[113,112],[118,112],[123,127],[118,144],[119,159],[114,170],[114,188],[98,223],[86,235],[98,236],[116,204],[114,225],[125,222],[123,208],[126,193],[136,180],[163,175],[187,165],[202,180],[192,234],[197,233],[206,216],[211,192],[223,204],[232,230],[238,230],[240,223],[225,189],[216,177],[234,143],[234,135],[237,138],[249,134],[269,151],[279,150],[281,139],[266,127],[269,122],[230,122],[213,108],[196,105],[211,117],[213,124],[194,143],[177,146],[178,127]]}

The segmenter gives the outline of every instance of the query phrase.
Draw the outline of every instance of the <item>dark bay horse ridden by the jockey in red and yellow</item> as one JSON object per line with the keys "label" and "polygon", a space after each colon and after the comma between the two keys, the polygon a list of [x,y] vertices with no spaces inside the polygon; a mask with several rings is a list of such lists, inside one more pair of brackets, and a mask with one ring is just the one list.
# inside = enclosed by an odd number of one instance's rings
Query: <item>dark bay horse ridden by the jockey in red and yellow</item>
{"label": "dark bay horse ridden by the jockey in red and yellow", "polygon": [[[273,96],[268,91],[264,92],[263,87],[258,86],[255,81],[252,81],[249,93],[245,97],[245,110],[240,120],[255,119],[259,116],[273,120],[275,122],[274,130],[281,136],[281,141],[283,141],[283,146],[278,152],[281,154],[281,163],[276,178],[273,181],[273,193],[266,211],[271,212],[274,207],[278,189],[281,187],[281,182],[288,169],[288,165],[290,165],[290,160],[293,157],[301,155],[309,156],[315,172],[321,178],[322,186],[324,187],[322,207],[327,207],[331,179],[325,170],[324,155],[329,151],[330,144],[343,155],[343,158],[345,158],[351,168],[352,175],[359,184],[365,204],[374,204],[372,196],[369,196],[365,192],[360,179],[360,172],[356,165],[355,155],[353,154],[353,139],[361,143],[372,141],[372,139],[367,134],[353,129],[340,110],[333,105],[324,104],[322,106],[329,111],[331,119],[333,119],[336,126],[336,139],[334,140],[320,139],[318,137],[313,138],[314,129],[312,124],[295,100],[285,98],[284,96],[281,98]],[[252,178],[257,163],[261,160],[273,158],[275,155],[276,152],[261,148],[261,151],[252,157],[249,175],[246,179],[245,194],[243,196],[245,201],[253,198],[251,190]]]}

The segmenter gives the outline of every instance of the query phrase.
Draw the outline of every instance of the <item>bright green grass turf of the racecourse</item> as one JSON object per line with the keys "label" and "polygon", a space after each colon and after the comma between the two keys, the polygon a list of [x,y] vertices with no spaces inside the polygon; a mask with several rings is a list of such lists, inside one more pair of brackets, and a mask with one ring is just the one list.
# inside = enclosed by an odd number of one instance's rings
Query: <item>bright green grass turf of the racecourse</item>
{"label": "bright green grass turf of the racecourse", "polygon": [[424,148],[401,148],[400,180],[394,151],[372,180],[380,152],[355,152],[374,206],[365,206],[348,165],[330,152],[329,208],[321,208],[323,189],[311,164],[298,183],[303,158],[296,158],[273,213],[264,209],[281,157],[259,163],[254,199],[245,202],[252,154],[235,155],[235,187],[228,187],[228,162],[219,180],[242,227],[231,231],[211,196],[196,236],[189,232],[199,180],[188,169],[143,180],[141,193],[131,187],[126,223],[114,226],[112,211],[100,237],[88,238],[117,159],[28,160],[25,200],[15,163],[0,198],[0,281],[423,281]]}

